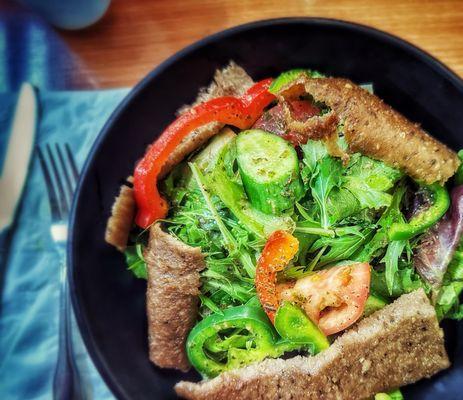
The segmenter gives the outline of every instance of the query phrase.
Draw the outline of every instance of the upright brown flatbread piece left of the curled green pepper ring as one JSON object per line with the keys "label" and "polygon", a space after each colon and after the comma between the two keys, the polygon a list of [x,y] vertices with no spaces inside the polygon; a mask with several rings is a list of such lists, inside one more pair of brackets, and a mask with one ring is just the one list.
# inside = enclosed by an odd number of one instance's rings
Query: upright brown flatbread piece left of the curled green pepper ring
{"label": "upright brown flatbread piece left of the curled green pepper ring", "polygon": [[159,367],[187,371],[185,341],[197,318],[204,257],[199,248],[187,246],[155,224],[145,260],[150,360]]}

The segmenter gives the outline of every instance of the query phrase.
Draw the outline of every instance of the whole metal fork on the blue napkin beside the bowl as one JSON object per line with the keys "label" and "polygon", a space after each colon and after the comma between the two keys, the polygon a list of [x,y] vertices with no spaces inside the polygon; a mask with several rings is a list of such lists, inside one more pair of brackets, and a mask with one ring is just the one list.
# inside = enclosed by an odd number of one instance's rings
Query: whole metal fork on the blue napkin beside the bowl
{"label": "whole metal fork on the blue napkin beside the bowl", "polygon": [[79,172],[69,144],[55,143],[37,147],[50,203],[50,233],[61,258],[58,359],[53,377],[53,398],[78,400],[84,398],[81,378],[74,359],[72,343],[72,307],[66,264],[68,217]]}

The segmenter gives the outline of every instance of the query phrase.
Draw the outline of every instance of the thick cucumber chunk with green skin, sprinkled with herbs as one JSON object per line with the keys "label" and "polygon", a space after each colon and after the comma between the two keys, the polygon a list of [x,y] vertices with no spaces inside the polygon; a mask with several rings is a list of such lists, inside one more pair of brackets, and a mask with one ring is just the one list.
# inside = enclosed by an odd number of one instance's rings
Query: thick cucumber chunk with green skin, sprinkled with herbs
{"label": "thick cucumber chunk with green skin, sprinkled with herbs", "polygon": [[[255,168],[249,165],[251,162],[249,154],[240,154],[239,152],[240,141],[242,141],[244,135],[252,135],[252,137],[255,138],[254,145],[256,150],[262,150],[262,148],[259,149],[259,146],[262,146],[262,138],[268,142],[266,143],[267,145],[270,143],[275,147],[275,150],[277,150],[272,153],[274,149],[271,147],[265,149],[268,150],[267,155],[269,156],[269,162],[263,162],[261,164],[262,168],[266,168],[268,164],[272,163],[279,166],[281,166],[281,164],[286,166],[290,164],[290,168],[286,168],[284,171],[275,171],[275,179],[273,180],[259,180],[253,171]],[[246,140],[249,139],[246,138]],[[237,138],[237,148],[239,172],[251,204],[258,210],[273,215],[281,214],[293,207],[295,201],[299,200],[304,193],[302,180],[299,176],[299,160],[296,150],[279,136],[259,130],[240,133]],[[275,158],[271,159],[272,154],[278,155],[278,150],[283,150],[287,153],[285,154],[285,159],[283,159],[281,163],[278,163],[278,160]],[[266,169],[268,170],[268,168]]]}

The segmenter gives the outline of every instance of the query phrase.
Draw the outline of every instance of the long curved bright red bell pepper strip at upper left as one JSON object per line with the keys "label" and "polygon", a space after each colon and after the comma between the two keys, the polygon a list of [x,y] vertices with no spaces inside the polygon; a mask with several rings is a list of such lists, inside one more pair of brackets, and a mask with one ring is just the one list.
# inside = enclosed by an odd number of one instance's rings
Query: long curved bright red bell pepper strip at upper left
{"label": "long curved bright red bell pepper strip at upper left", "polygon": [[134,195],[138,206],[135,222],[148,228],[164,218],[168,203],[161,197],[157,180],[170,153],[194,129],[210,122],[220,122],[247,129],[260,117],[275,96],[268,92],[272,79],[264,79],[248,89],[241,97],[219,97],[193,107],[172,122],[148,149],[134,172]]}

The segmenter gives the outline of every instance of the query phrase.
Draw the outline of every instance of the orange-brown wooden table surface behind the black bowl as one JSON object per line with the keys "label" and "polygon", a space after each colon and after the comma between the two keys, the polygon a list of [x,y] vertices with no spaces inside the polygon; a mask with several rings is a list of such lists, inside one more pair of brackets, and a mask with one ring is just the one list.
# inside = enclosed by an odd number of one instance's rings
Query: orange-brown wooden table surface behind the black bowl
{"label": "orange-brown wooden table surface behind the black bowl", "polygon": [[258,19],[319,16],[398,35],[463,76],[461,0],[113,0],[106,16],[78,32],[60,32],[96,86],[131,86],[184,46]]}

